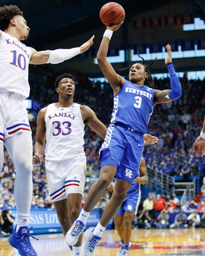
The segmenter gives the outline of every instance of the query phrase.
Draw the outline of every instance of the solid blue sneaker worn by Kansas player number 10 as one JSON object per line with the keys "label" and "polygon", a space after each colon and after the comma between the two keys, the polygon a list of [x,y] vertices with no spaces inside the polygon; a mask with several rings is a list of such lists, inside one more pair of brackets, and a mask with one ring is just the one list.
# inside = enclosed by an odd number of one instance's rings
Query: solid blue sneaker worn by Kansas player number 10
{"label": "solid blue sneaker worn by Kansas player number 10", "polygon": [[9,244],[16,248],[21,256],[37,256],[37,253],[30,243],[29,236],[36,240],[38,239],[29,234],[30,229],[32,229],[32,226],[30,228],[27,226],[20,226],[16,232],[15,226],[11,236],[8,238]]}

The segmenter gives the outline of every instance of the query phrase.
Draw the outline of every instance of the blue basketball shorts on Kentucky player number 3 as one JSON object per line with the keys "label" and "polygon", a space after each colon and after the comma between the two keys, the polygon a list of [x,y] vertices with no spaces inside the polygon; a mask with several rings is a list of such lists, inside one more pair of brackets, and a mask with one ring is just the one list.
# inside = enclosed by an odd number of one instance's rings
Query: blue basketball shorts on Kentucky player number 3
{"label": "blue basketball shorts on Kentucky player number 3", "polygon": [[104,142],[99,150],[101,167],[117,168],[115,178],[133,184],[138,175],[143,152],[143,134],[120,125],[109,124]]}

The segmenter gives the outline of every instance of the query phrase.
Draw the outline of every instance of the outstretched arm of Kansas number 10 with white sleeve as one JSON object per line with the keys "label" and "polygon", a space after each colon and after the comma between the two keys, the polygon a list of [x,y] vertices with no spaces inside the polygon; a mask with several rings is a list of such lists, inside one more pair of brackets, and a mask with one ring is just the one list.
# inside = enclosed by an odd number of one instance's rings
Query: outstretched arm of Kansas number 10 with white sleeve
{"label": "outstretched arm of Kansas number 10 with white sleeve", "polygon": [[36,51],[34,48],[30,48],[31,57],[29,60],[29,64],[44,64],[51,63],[57,64],[66,59],[70,59],[76,56],[79,53],[86,51],[92,44],[94,35],[85,43],[83,43],[80,47],[75,47],[71,49],[56,49],[56,50],[42,50]]}

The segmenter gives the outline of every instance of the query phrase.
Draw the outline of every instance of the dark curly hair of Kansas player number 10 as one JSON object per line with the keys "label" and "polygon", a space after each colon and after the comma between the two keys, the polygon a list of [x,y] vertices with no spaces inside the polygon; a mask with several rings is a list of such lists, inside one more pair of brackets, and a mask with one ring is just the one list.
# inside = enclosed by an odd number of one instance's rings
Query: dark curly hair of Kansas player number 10
{"label": "dark curly hair of Kansas player number 10", "polygon": [[0,7],[0,30],[4,31],[7,29],[11,18],[16,15],[23,16],[23,13],[18,6],[10,4]]}

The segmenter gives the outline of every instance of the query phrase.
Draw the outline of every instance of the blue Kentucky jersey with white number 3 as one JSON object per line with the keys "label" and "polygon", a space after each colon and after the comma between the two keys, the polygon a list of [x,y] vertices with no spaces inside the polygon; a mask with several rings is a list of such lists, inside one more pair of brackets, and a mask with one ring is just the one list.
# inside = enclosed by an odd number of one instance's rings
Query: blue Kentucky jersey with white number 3
{"label": "blue Kentucky jersey with white number 3", "polygon": [[153,112],[154,89],[125,81],[114,96],[111,123],[146,133]]}

